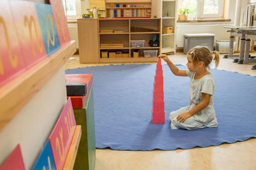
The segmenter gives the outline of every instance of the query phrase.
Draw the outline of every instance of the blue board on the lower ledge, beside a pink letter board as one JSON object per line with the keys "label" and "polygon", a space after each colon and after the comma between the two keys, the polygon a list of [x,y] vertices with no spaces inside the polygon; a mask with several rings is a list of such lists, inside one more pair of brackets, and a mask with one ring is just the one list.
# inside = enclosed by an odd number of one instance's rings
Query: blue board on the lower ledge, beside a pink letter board
{"label": "blue board on the lower ledge, beside a pink letter board", "polygon": [[36,160],[36,164],[33,167],[33,170],[42,170],[42,169],[51,169],[54,170],[54,160],[52,157],[51,146],[49,140],[47,140],[44,149],[42,150],[38,160]]}

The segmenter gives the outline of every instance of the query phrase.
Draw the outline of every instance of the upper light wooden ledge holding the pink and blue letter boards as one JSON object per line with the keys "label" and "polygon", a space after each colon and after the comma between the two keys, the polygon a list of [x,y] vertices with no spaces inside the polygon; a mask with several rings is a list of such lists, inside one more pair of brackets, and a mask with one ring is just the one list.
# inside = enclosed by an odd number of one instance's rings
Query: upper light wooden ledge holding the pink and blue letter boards
{"label": "upper light wooden ledge holding the pink and blue letter boards", "polygon": [[76,52],[70,41],[0,89],[0,131]]}

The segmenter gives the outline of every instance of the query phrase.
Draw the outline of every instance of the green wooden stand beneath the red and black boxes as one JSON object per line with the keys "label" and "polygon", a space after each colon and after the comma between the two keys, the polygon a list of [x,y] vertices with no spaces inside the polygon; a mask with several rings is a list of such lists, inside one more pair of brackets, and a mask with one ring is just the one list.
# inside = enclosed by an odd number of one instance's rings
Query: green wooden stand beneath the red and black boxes
{"label": "green wooden stand beneath the red and black boxes", "polygon": [[93,85],[84,107],[74,109],[76,124],[82,127],[82,136],[77,150],[74,169],[95,169],[95,124],[93,108]]}

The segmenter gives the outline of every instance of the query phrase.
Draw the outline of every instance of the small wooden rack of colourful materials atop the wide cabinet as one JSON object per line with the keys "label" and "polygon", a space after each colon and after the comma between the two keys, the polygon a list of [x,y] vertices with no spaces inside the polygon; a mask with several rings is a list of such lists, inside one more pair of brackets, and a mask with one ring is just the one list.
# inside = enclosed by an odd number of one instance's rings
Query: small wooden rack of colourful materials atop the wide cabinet
{"label": "small wooden rack of colourful materials atop the wide cabinet", "polygon": [[152,0],[106,0],[106,16],[150,18],[152,17]]}

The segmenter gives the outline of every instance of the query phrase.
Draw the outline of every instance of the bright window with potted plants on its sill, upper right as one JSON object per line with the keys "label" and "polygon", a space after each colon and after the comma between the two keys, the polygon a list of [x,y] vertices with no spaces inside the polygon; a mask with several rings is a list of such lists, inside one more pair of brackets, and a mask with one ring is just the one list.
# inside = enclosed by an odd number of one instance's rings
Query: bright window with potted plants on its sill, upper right
{"label": "bright window with potted plants on its sill, upper right", "polygon": [[179,6],[188,8],[194,19],[223,18],[224,0],[181,0]]}

